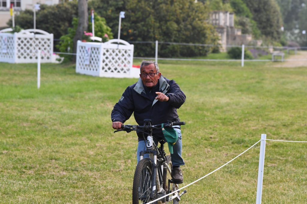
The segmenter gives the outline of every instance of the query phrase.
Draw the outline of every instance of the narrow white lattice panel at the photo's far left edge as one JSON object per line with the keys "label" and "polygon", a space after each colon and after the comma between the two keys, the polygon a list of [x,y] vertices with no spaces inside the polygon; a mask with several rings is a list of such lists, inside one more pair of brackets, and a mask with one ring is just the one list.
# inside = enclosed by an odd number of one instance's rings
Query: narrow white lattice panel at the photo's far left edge
{"label": "narrow white lattice panel at the photo's far left edge", "polygon": [[0,62],[14,62],[14,34],[0,33]]}

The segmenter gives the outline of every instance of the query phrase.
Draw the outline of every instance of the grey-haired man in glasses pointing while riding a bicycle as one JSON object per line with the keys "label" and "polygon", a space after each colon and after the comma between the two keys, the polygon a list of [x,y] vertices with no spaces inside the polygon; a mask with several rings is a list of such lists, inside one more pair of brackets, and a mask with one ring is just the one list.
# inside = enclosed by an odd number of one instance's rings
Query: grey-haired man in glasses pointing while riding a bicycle
{"label": "grey-haired man in glasses pointing while riding a bicycle", "polygon": [[[177,108],[185,102],[185,94],[174,80],[169,80],[161,75],[157,62],[143,60],[140,66],[140,78],[138,82],[128,86],[122,97],[115,104],[112,112],[112,127],[119,130],[134,112],[134,119],[139,125],[143,125],[144,119],[151,119],[153,124],[179,122]],[[173,164],[172,178],[174,183],[182,183],[183,175],[180,166],[185,162],[181,157],[182,142],[181,130],[174,129],[178,133],[178,140],[173,145],[171,159]],[[138,132],[137,160],[139,153],[146,149],[143,134]],[[163,138],[163,133],[158,129],[153,130],[154,138]],[[156,140],[157,141],[157,140]]]}

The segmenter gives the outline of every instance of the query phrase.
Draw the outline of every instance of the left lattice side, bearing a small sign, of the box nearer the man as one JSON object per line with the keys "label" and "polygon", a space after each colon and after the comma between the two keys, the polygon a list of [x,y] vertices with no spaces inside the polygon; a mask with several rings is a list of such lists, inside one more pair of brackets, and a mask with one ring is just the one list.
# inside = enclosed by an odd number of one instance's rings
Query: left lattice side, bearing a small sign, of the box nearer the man
{"label": "left lattice side, bearing a small sign, of the box nearer the man", "polygon": [[[86,46],[91,47],[89,63],[86,63]],[[99,76],[99,67],[101,65],[101,43],[87,43],[78,41],[76,56],[76,72],[92,76]]]}

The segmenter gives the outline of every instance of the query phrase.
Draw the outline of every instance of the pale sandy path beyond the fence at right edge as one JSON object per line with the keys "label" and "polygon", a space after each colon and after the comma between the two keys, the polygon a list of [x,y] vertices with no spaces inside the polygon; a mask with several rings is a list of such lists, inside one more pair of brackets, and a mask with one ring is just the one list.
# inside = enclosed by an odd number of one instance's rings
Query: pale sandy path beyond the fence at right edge
{"label": "pale sandy path beyond the fence at right edge", "polygon": [[[289,58],[291,60],[301,60],[305,59],[305,61],[286,61],[286,62],[274,62],[274,67],[298,67],[298,66],[307,66],[307,51],[297,51],[296,55],[290,55]],[[286,60],[287,60],[286,59]]]}

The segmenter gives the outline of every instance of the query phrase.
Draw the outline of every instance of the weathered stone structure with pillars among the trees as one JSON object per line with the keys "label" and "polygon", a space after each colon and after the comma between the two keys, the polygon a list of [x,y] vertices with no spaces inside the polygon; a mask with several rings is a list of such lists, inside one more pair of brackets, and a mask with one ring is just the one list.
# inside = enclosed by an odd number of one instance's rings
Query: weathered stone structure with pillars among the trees
{"label": "weathered stone structure with pillars among the trees", "polygon": [[242,45],[252,41],[250,34],[242,34],[235,28],[235,15],[228,11],[214,11],[210,14],[211,24],[220,35],[221,51],[226,51],[227,45]]}

